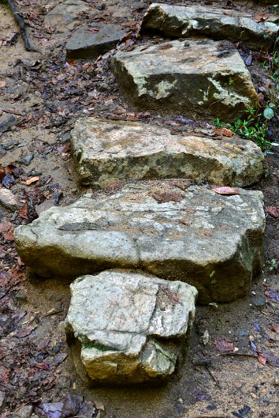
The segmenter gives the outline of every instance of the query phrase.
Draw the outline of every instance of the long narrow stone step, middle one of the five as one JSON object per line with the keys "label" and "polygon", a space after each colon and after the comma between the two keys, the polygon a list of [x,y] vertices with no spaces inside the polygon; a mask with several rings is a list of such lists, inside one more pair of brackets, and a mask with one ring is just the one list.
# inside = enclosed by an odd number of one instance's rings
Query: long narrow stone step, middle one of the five
{"label": "long narrow stone step, middle one of the five", "polygon": [[263,171],[262,151],[251,141],[172,135],[144,123],[82,118],[71,143],[80,183],[96,188],[153,178],[243,187],[257,182]]}

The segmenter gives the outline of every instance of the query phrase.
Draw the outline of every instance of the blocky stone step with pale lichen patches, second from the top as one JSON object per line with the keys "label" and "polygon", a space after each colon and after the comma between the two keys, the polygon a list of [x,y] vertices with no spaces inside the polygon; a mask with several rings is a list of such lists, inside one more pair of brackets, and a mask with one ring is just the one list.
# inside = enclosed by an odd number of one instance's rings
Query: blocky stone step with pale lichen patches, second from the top
{"label": "blocky stone step with pale lichen patches, second from the top", "polygon": [[226,41],[140,46],[117,53],[114,72],[123,94],[141,111],[234,121],[259,102],[239,52]]}

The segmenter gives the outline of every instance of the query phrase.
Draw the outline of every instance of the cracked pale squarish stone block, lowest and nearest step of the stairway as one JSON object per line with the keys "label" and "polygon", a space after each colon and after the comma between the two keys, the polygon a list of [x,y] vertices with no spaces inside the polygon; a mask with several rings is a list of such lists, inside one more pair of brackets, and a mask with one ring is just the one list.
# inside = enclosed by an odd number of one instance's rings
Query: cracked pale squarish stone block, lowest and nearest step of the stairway
{"label": "cracked pale squarish stone block, lowest and nearest step of the stairway", "polygon": [[127,385],[172,375],[185,355],[197,289],[111,270],[79,277],[70,290],[66,330],[80,341],[93,382]]}

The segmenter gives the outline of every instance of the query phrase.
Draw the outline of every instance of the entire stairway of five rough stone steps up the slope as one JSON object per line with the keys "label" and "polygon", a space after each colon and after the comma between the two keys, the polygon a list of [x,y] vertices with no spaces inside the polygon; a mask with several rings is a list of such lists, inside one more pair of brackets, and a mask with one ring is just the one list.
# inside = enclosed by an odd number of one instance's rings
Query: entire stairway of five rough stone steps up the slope
{"label": "entire stairway of five rough stone steps up the slope", "polygon": [[[255,25],[220,9],[154,4],[142,28],[180,39],[114,56],[131,107],[232,121],[257,106],[228,40],[241,31],[252,48],[273,47],[276,17]],[[200,304],[236,300],[261,270],[262,193],[241,187],[262,176],[262,152],[238,137],[98,118],[77,121],[71,142],[93,194],[19,226],[17,251],[41,277],[75,279],[66,334],[94,383],[163,380],[186,355],[197,292]]]}

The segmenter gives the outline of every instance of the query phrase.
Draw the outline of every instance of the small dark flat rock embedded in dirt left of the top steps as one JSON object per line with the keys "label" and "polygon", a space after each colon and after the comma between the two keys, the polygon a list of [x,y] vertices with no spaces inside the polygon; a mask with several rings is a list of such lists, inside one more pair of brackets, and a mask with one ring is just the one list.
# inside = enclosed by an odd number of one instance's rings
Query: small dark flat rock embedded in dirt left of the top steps
{"label": "small dark flat rock embedded in dirt left of the top steps", "polygon": [[[95,31],[98,29],[98,31]],[[118,24],[86,24],[77,29],[66,44],[67,56],[93,59],[109,51],[125,35]]]}

